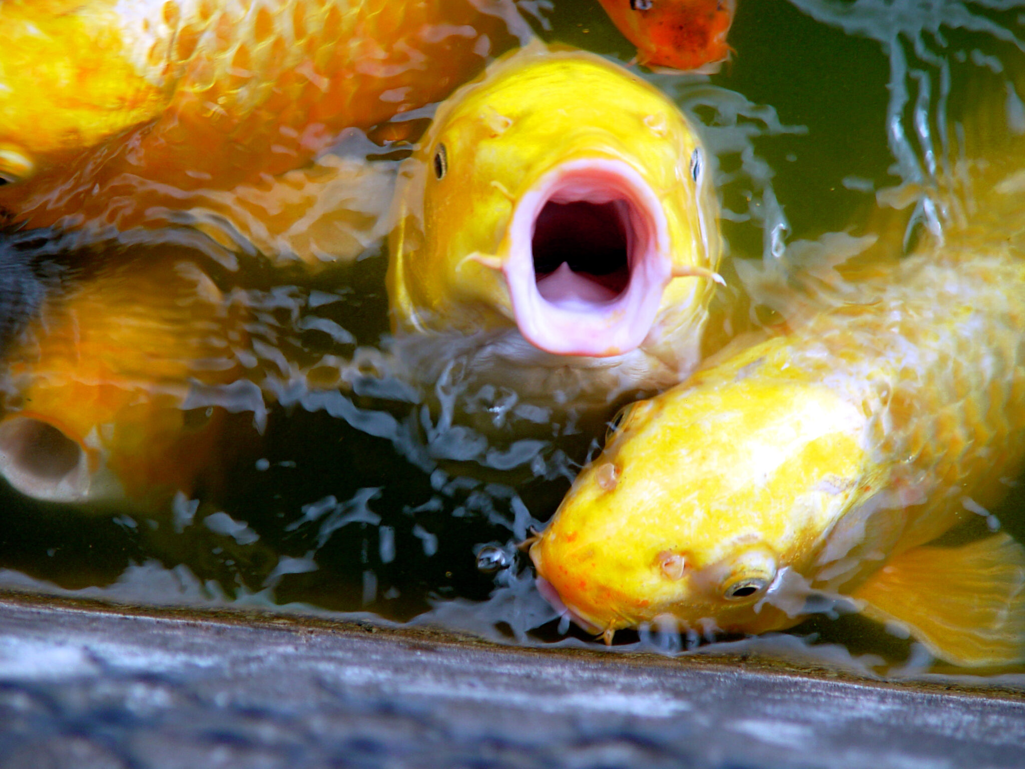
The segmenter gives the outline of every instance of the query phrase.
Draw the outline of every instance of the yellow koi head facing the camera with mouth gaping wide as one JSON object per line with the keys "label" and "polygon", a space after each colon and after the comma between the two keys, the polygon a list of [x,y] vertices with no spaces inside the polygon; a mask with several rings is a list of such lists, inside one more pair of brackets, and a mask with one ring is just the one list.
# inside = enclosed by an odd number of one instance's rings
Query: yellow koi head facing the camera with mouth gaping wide
{"label": "yellow koi head facing the camera with mouth gaping wide", "polygon": [[396,325],[515,326],[596,357],[697,331],[721,250],[706,165],[676,107],[622,68],[541,46],[501,60],[402,171]]}

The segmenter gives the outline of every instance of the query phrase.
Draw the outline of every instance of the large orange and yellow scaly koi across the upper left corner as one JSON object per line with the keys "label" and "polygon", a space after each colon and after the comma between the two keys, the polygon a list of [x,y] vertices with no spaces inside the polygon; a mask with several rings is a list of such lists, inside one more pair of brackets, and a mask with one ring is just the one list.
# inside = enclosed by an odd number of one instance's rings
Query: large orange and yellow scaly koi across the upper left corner
{"label": "large orange and yellow scaly koi across the upper left corner", "polygon": [[504,0],[4,0],[0,28],[0,211],[121,230],[299,168],[526,34]]}

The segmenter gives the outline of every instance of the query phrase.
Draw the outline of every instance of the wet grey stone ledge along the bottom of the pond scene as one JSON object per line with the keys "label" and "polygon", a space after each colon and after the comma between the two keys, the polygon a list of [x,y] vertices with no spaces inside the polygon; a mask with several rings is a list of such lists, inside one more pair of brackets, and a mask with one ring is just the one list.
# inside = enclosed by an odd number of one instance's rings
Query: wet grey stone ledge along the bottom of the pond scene
{"label": "wet grey stone ledge along the bottom of the pond scene", "polygon": [[0,768],[1025,767],[1025,696],[0,597]]}

